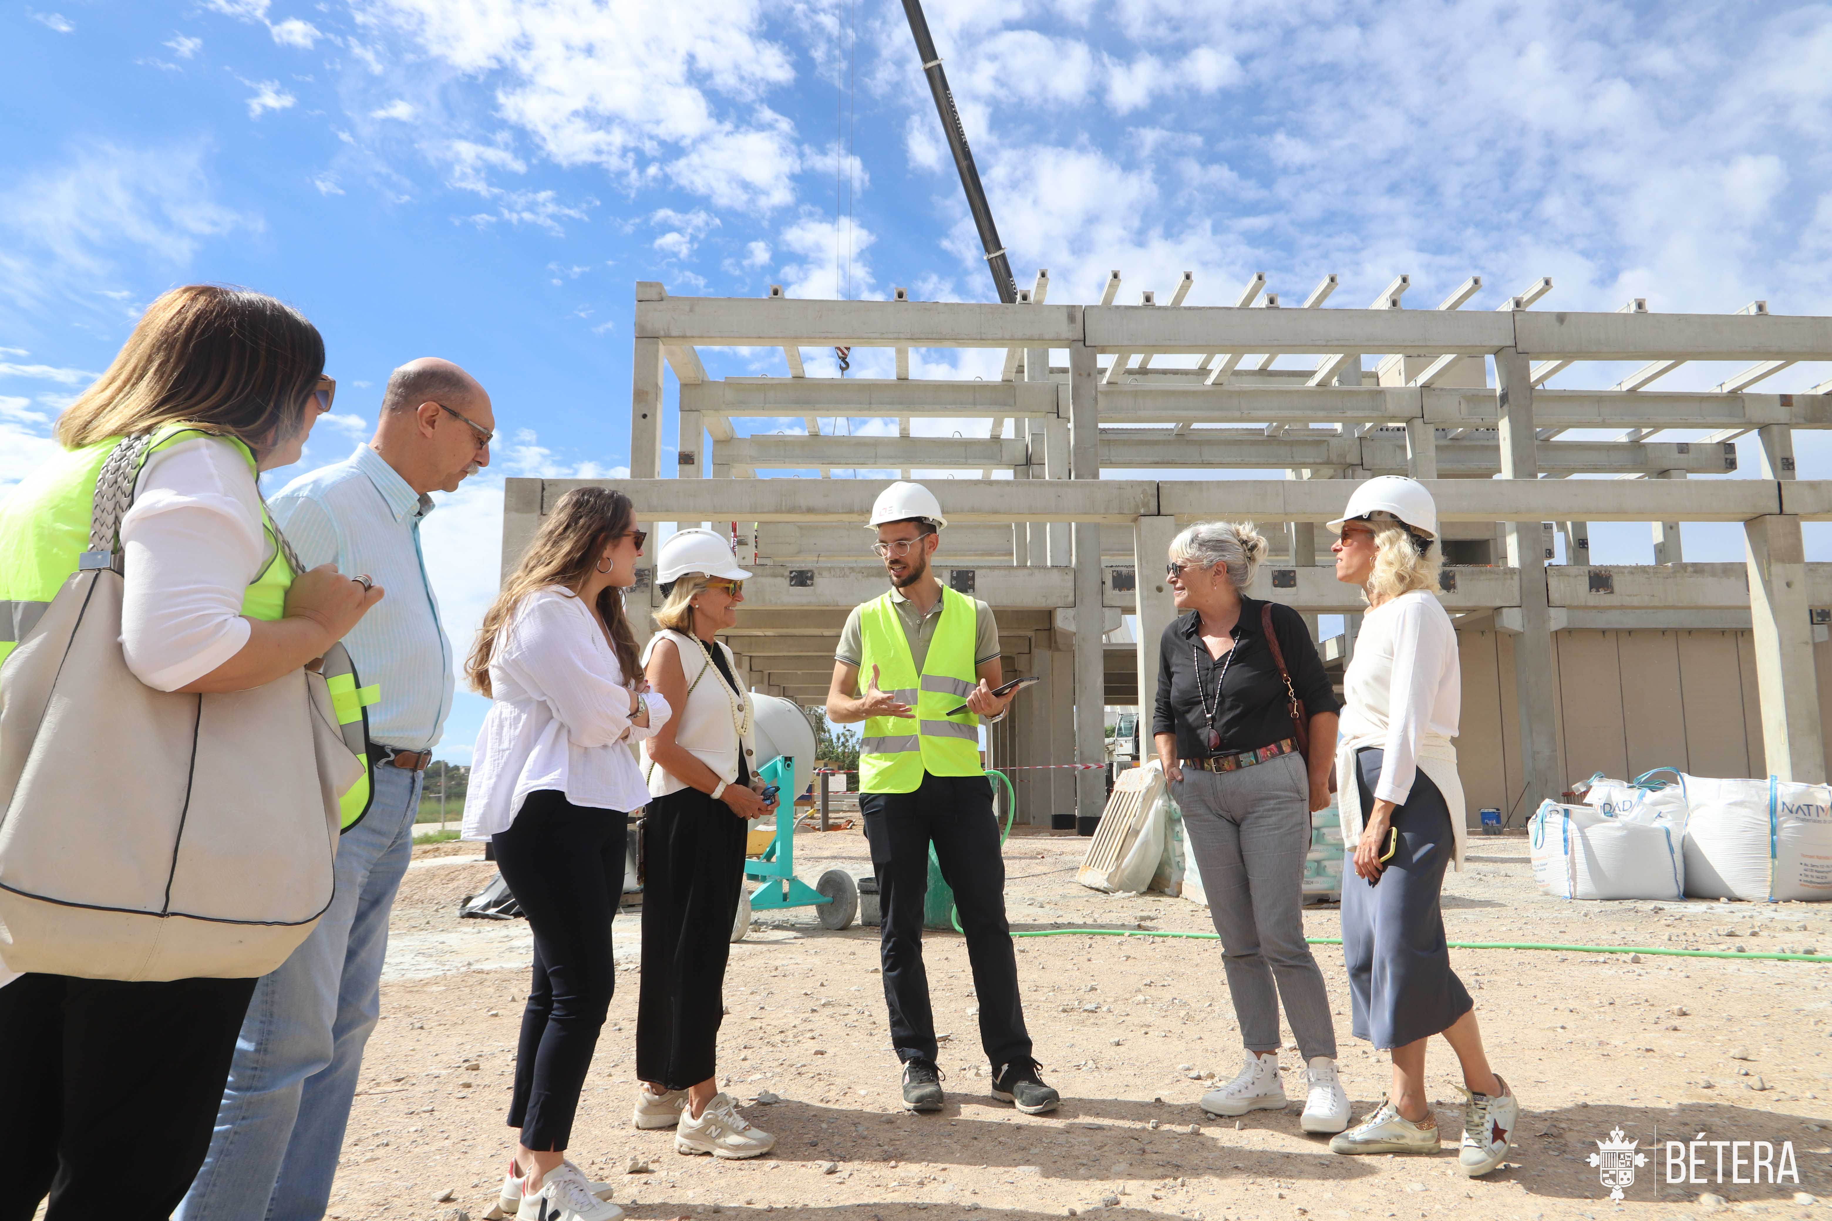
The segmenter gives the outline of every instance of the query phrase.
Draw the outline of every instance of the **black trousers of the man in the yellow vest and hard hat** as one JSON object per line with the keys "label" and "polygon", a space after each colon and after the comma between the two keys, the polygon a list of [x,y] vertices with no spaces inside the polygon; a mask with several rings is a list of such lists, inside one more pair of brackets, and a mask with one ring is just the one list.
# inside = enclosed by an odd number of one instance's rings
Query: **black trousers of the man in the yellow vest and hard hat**
{"label": "black trousers of the man in the yellow vest and hard hat", "polygon": [[1030,1064],[1031,1042],[1019,999],[1019,963],[1006,923],[1006,860],[998,851],[993,783],[986,776],[929,776],[914,793],[861,793],[865,837],[883,913],[881,957],[890,1045],[898,1060],[934,1060],[934,1010],[921,963],[921,908],[929,846],[954,888],[967,963],[980,999],[980,1045],[997,1071]]}

